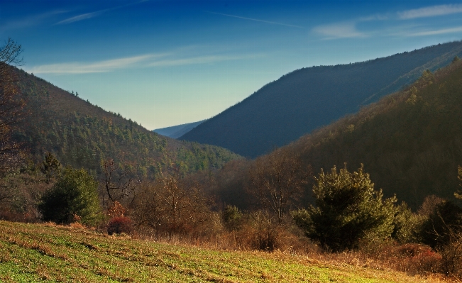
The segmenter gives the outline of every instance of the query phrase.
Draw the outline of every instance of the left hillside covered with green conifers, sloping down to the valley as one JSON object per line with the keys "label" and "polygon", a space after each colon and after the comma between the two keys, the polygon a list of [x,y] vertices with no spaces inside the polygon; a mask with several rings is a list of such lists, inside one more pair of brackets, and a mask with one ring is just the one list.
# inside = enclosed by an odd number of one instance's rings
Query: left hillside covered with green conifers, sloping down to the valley
{"label": "left hillside covered with green conifers, sloping down to the valley", "polygon": [[114,158],[133,174],[153,177],[172,165],[187,173],[217,169],[241,158],[214,145],[158,135],[39,77],[16,72],[26,100],[26,118],[16,125],[12,137],[35,162],[52,152],[63,165],[98,173],[104,160]]}

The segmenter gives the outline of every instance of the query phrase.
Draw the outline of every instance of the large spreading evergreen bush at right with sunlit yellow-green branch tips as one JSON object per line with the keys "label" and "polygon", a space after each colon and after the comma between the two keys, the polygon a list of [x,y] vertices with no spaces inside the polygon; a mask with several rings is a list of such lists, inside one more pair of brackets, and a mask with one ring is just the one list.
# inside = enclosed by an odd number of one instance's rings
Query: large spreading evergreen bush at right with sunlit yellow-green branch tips
{"label": "large spreading evergreen bush at right with sunlit yellow-green branch tips", "polygon": [[313,187],[317,207],[292,213],[297,226],[308,238],[334,252],[358,248],[361,240],[390,237],[394,225],[395,197],[382,200],[369,174],[350,173],[346,167],[321,173]]}

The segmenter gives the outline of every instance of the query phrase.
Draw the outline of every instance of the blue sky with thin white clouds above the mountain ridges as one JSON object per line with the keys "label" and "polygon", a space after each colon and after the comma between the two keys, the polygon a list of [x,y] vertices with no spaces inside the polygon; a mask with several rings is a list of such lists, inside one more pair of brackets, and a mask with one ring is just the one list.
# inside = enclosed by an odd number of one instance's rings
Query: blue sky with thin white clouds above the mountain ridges
{"label": "blue sky with thin white clouds above the mountain ridges", "polygon": [[462,1],[0,1],[21,68],[153,130],[282,75],[462,40]]}

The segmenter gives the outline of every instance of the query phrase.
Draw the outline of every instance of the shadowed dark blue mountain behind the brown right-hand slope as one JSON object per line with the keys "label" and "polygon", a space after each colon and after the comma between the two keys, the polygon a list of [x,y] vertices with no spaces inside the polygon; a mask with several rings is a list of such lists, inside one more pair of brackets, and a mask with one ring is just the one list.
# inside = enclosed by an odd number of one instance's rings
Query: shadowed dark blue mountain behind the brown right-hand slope
{"label": "shadowed dark blue mountain behind the brown right-hand slope", "polygon": [[180,139],[257,157],[401,89],[462,55],[462,42],[348,65],[296,70],[265,85]]}

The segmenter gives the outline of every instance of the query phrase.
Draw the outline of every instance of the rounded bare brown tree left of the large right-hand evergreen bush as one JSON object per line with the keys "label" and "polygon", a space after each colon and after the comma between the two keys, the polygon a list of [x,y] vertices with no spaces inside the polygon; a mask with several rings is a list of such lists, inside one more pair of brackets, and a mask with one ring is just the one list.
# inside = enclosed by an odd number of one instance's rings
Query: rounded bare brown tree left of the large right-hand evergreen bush
{"label": "rounded bare brown tree left of the large right-hand evergreen bush", "polygon": [[304,167],[288,150],[279,149],[255,160],[249,170],[247,189],[282,223],[290,204],[302,194],[310,174],[311,167]]}

